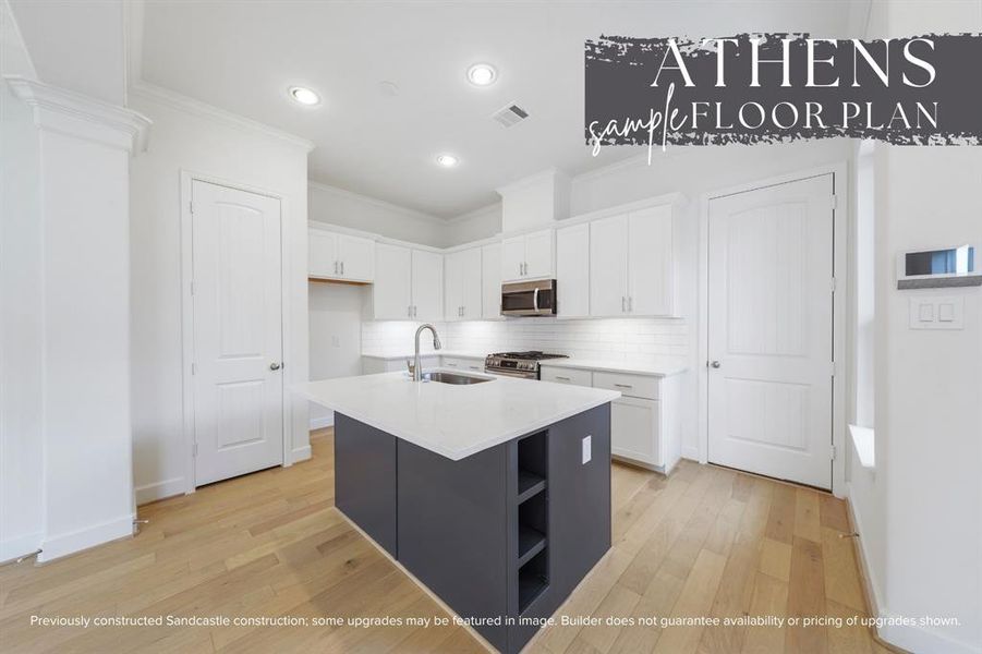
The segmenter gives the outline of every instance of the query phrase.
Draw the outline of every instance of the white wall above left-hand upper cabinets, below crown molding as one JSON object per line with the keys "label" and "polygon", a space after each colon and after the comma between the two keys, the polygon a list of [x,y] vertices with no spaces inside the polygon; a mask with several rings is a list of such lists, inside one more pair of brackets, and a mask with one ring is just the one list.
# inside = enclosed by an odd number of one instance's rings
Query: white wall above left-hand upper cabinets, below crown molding
{"label": "white wall above left-hand upper cabinets, below crown molding", "polygon": [[316,182],[308,193],[311,220],[434,247],[449,244],[447,222],[439,218]]}

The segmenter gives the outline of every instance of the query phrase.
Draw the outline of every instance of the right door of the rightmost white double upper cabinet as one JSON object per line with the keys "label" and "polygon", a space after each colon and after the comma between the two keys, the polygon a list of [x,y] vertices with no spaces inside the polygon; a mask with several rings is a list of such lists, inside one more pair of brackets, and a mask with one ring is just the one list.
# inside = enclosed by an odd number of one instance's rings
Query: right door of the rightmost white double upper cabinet
{"label": "right door of the rightmost white double upper cabinet", "polygon": [[628,218],[628,313],[672,313],[671,207],[634,211]]}

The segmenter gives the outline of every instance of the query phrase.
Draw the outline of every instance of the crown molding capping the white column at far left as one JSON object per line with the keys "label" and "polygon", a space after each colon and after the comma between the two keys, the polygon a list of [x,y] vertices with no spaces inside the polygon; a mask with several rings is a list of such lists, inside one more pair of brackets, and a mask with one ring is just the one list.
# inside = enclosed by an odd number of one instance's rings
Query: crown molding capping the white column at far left
{"label": "crown molding capping the white column at far left", "polygon": [[4,80],[14,96],[34,109],[38,128],[130,154],[146,150],[153,121],[144,114],[21,75],[8,75]]}

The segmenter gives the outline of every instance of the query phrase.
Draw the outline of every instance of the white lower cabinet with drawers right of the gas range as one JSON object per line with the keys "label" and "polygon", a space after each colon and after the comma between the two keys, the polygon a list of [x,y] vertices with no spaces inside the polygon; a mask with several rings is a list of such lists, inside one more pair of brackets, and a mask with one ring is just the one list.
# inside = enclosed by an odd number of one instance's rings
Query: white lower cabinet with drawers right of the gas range
{"label": "white lower cabinet with drawers right of the gas range", "polygon": [[611,373],[543,364],[543,382],[618,390],[610,403],[610,453],[668,474],[681,458],[679,377]]}

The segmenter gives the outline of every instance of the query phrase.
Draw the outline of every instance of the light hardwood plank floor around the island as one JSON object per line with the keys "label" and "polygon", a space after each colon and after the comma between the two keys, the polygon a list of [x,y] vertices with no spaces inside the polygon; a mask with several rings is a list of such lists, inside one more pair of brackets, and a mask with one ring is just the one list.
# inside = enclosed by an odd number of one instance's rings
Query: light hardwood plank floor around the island
{"label": "light hardwood plank floor around the island", "polygon": [[[40,627],[31,616],[442,616],[334,508],[330,429],[314,458],[140,508],[140,535],[0,568],[3,652],[482,652],[461,627]],[[865,615],[845,505],[682,462],[616,464],[614,547],[568,616]],[[549,627],[526,649],[595,652],[884,651],[863,627]]]}

